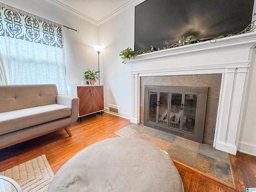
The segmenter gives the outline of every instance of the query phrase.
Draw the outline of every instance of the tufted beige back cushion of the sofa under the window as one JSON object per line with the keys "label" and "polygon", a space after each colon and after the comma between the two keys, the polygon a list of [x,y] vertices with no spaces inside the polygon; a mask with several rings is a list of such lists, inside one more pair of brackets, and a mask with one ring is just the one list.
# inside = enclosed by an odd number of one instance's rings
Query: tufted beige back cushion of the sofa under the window
{"label": "tufted beige back cushion of the sofa under the window", "polygon": [[56,104],[55,84],[0,85],[0,112]]}

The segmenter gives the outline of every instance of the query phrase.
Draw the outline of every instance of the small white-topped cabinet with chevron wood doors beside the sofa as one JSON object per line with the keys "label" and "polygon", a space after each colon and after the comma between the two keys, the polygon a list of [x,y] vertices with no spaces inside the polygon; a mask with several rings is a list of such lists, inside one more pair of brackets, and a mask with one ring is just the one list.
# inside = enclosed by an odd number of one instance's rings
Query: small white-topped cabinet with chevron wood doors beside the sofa
{"label": "small white-topped cabinet with chevron wood doors beside the sofa", "polygon": [[102,85],[68,86],[68,95],[79,97],[79,117],[104,110],[104,89]]}

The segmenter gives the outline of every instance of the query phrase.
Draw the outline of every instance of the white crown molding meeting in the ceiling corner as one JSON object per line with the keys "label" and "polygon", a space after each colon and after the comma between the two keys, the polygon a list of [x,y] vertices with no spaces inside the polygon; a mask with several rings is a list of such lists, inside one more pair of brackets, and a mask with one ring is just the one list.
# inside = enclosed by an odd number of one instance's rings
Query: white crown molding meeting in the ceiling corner
{"label": "white crown molding meeting in the ceiling corner", "polygon": [[136,4],[136,2],[141,2],[141,0],[130,0],[129,2],[127,2],[126,4],[120,6],[119,8],[117,8],[116,10],[114,10],[113,12],[111,12],[110,14],[108,14],[107,16],[105,16],[104,18],[96,21],[88,16],[86,16],[85,14],[82,14],[81,12],[78,12],[77,10],[74,10],[73,8],[57,1],[57,0],[44,0],[46,2],[49,2],[59,8],[62,8],[63,10],[66,10],[96,26],[100,26],[101,24],[103,24],[104,22],[110,20],[111,18],[113,18],[114,16],[120,14],[121,12],[123,12],[124,10],[126,10],[127,8],[129,8],[130,6],[133,6]]}

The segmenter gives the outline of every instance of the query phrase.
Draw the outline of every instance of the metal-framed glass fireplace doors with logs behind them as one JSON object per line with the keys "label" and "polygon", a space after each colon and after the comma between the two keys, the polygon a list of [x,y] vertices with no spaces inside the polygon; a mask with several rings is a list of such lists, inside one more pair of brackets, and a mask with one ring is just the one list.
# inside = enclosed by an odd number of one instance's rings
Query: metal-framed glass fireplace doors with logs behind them
{"label": "metal-framed glass fireplace doors with logs behind them", "polygon": [[145,86],[144,125],[203,141],[208,87]]}

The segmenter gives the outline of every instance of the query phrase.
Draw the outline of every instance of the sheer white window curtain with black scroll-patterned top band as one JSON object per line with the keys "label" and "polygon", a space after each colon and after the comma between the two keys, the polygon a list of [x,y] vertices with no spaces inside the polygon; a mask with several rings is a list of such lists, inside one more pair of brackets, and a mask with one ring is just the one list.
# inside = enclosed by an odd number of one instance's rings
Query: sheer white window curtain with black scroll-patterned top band
{"label": "sheer white window curtain with black scroll-patterned top band", "polygon": [[67,94],[62,26],[0,3],[0,82],[54,83]]}

